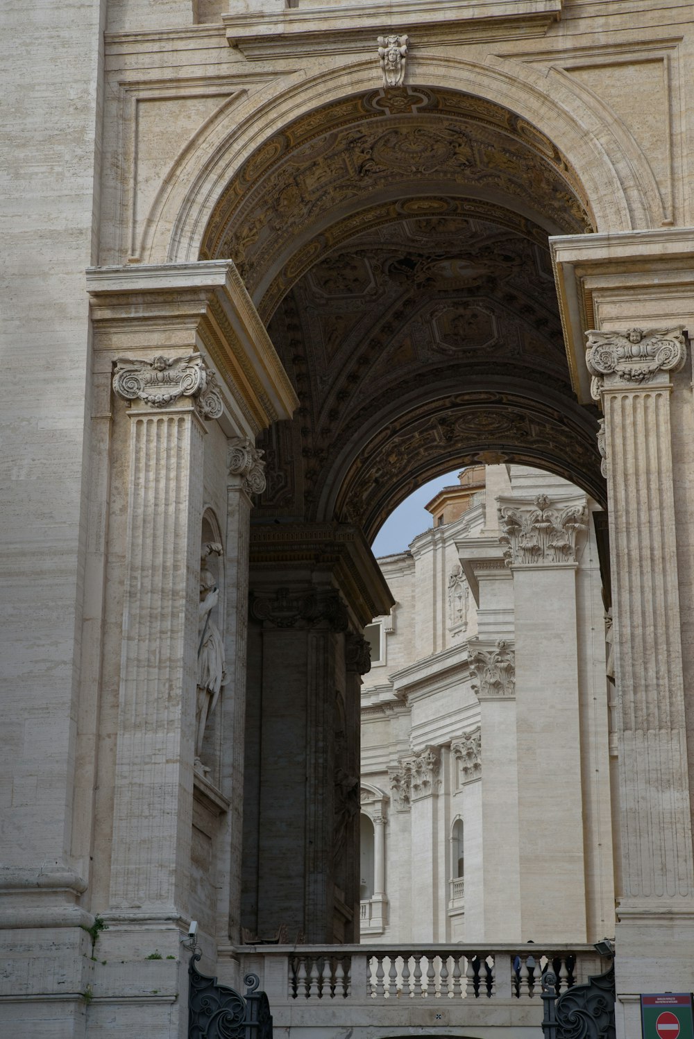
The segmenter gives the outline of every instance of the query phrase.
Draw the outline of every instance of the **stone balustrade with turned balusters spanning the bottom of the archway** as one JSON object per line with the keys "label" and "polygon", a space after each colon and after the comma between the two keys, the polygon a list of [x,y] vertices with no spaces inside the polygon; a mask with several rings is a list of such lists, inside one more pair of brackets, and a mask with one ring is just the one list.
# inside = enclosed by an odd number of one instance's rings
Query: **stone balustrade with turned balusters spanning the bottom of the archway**
{"label": "stone balustrade with turned balusters spanning the bottom of the archway", "polygon": [[557,994],[607,966],[585,944],[246,945],[239,955],[241,971],[260,976],[275,1028],[322,1035],[366,1030],[376,1005],[384,1027],[539,1027],[548,966]]}

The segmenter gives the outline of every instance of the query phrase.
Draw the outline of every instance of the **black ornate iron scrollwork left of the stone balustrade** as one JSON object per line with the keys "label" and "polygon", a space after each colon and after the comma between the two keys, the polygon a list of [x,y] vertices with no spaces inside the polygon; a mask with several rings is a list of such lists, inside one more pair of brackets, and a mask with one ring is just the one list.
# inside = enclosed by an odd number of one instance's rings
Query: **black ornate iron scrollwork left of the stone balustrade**
{"label": "black ornate iron scrollwork left of the stone balustrade", "polygon": [[198,974],[193,953],[188,965],[188,1039],[272,1039],[272,1015],[258,975],[243,979],[245,996],[216,978]]}

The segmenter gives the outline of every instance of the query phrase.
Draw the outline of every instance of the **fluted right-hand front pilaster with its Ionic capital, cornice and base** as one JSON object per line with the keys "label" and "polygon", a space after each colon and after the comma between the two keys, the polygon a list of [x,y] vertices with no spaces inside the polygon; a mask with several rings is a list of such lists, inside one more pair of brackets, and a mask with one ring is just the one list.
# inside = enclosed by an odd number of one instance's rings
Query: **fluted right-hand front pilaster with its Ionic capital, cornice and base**
{"label": "fluted right-hand front pilaster with its Ionic capital, cornice and base", "polygon": [[[689,229],[556,239],[571,367],[603,409],[608,485],[618,819],[617,1035],[638,992],[689,991],[694,970],[691,768],[686,689],[694,654]],[[587,336],[587,352],[582,341]],[[689,447],[683,450],[685,443]],[[688,746],[689,742],[689,746]]]}

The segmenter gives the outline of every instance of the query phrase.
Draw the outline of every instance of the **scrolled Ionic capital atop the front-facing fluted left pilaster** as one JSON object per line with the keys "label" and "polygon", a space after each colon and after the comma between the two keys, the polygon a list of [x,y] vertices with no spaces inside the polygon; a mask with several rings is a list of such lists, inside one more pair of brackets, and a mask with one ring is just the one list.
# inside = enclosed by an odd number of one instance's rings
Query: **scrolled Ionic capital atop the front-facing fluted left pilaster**
{"label": "scrolled Ionic capital atop the front-facing fluted left pilaster", "polygon": [[221,396],[199,353],[185,357],[159,354],[151,361],[118,357],[113,373],[113,392],[124,400],[141,400],[150,407],[167,408],[182,397],[192,398],[204,419],[218,419],[223,410]]}

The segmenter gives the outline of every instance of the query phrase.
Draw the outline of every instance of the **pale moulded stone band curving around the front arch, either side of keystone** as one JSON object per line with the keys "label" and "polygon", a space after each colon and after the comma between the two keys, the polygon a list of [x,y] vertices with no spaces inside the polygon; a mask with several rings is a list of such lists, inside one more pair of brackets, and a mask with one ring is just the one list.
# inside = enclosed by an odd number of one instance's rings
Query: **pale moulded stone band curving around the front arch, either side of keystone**
{"label": "pale moulded stone band curving around the front arch, either side of keystone", "polygon": [[[417,82],[491,101],[544,133],[569,158],[591,201],[597,231],[651,225],[658,189],[648,162],[626,132],[617,139],[591,91],[575,84],[569,90],[559,76],[545,77],[500,58],[480,65],[420,55],[411,70],[410,78]],[[196,260],[217,199],[252,153],[299,115],[373,90],[374,68],[372,61],[361,61],[308,80],[297,74],[285,82],[279,96],[274,81],[233,112],[220,113],[216,127],[206,127],[203,135],[189,141],[155,201],[144,234],[144,262]]]}

